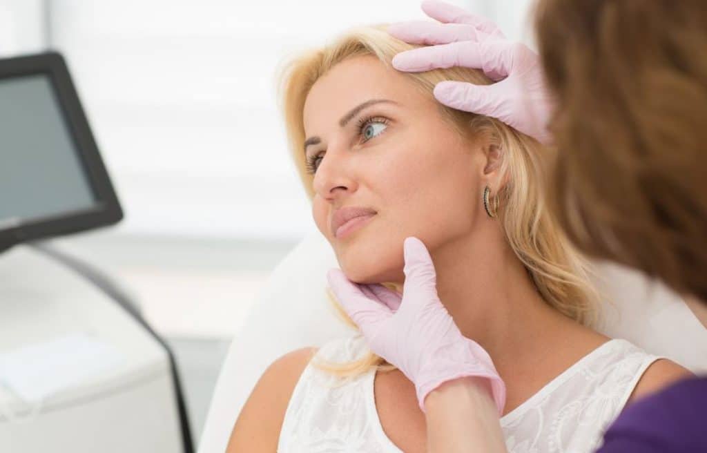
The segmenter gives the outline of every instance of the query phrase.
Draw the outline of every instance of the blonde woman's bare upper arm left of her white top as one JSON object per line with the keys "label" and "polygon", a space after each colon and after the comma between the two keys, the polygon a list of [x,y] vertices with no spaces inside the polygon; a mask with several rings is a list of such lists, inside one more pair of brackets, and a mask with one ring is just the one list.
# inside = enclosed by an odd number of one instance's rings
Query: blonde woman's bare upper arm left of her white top
{"label": "blonde woman's bare upper arm left of her white top", "polygon": [[230,434],[227,453],[274,453],[295,386],[316,348],[291,351],[275,360],[255,384]]}

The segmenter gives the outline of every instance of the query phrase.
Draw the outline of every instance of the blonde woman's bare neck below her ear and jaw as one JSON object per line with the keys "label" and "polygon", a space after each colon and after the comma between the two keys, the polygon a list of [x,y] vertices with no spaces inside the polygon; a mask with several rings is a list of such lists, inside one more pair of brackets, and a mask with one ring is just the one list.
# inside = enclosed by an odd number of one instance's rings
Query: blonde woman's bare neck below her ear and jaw
{"label": "blonde woman's bare neck below her ear and jaw", "polygon": [[547,352],[574,322],[543,300],[501,235],[479,236],[438,247],[432,259],[443,305],[500,371],[519,358]]}

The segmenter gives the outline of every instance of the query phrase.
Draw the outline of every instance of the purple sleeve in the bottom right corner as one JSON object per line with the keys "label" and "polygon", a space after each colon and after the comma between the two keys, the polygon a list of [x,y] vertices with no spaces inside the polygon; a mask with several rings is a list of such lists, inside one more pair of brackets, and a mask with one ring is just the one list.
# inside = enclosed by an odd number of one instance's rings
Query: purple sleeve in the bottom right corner
{"label": "purple sleeve in the bottom right corner", "polygon": [[597,453],[707,452],[707,377],[672,384],[631,404]]}

